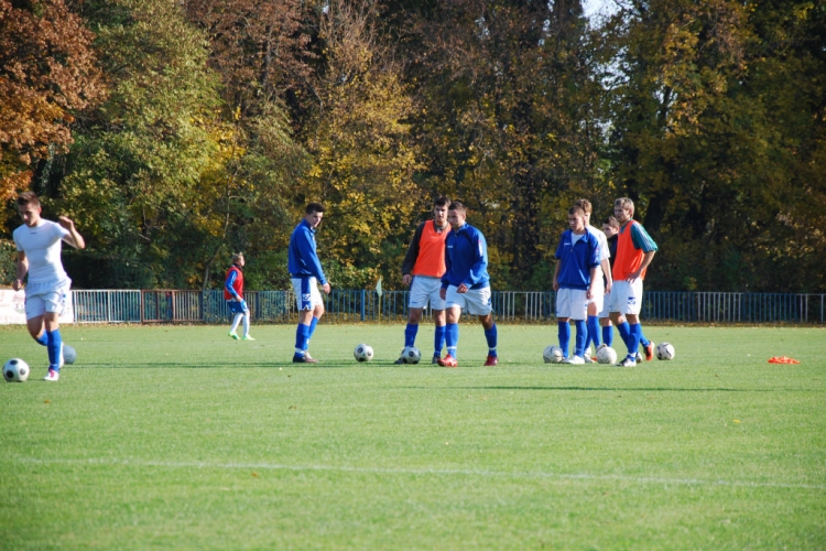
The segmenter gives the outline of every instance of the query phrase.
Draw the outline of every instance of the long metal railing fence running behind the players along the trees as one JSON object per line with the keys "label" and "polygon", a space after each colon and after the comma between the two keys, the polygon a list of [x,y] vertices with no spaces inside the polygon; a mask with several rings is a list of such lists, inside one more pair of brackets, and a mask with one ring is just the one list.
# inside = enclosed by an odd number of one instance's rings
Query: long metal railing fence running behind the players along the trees
{"label": "long metal railing fence running behind the players along the trees", "polygon": [[[224,323],[230,311],[222,291],[72,291],[77,323]],[[297,321],[292,291],[243,293],[253,321]],[[324,296],[325,321],[403,322],[407,291],[334,290]],[[500,323],[546,323],[555,320],[556,293],[493,291],[493,312]],[[645,293],[641,316],[662,323],[796,323],[823,325],[826,294],[793,293]],[[430,311],[425,312],[431,315]]]}

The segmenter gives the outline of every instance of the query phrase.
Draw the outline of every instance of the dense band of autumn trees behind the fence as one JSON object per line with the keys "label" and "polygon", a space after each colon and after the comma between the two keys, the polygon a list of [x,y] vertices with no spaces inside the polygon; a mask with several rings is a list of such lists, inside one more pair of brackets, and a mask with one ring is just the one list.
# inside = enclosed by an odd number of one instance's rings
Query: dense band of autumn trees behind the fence
{"label": "dense band of autumn trees behind the fence", "polygon": [[547,289],[565,208],[630,196],[650,289],[825,292],[826,4],[612,6],[0,0],[0,225],[23,188],[75,217],[77,287],[213,288],[243,250],[283,288],[323,201],[334,284],[398,287],[447,194],[494,287]]}

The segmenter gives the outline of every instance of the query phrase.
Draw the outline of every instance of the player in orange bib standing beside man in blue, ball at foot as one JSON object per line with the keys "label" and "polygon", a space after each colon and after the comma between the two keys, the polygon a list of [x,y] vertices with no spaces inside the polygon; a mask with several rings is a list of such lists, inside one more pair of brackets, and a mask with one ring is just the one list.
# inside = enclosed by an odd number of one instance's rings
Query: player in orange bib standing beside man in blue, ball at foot
{"label": "player in orange bib standing beside man in blue, ball at foot", "polygon": [[[410,285],[404,346],[415,346],[419,322],[422,321],[422,313],[430,302],[433,321],[436,323],[432,364],[438,364],[442,344],[445,341],[445,300],[439,291],[442,276],[445,273],[445,238],[449,230],[449,205],[450,199],[444,195],[433,203],[433,220],[419,225],[402,262],[402,281]],[[402,358],[396,359],[394,364],[403,364]]]}

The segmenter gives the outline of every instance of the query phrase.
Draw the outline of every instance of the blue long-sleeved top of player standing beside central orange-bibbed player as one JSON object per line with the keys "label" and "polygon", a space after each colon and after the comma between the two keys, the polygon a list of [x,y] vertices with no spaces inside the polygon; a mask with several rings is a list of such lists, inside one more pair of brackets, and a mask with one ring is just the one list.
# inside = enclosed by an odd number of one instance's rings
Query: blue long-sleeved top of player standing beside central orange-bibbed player
{"label": "blue long-sleeved top of player standing beside central orange-bibbed player", "polygon": [[442,289],[463,283],[468,289],[490,287],[488,242],[481,231],[467,224],[452,229],[445,239],[445,268]]}

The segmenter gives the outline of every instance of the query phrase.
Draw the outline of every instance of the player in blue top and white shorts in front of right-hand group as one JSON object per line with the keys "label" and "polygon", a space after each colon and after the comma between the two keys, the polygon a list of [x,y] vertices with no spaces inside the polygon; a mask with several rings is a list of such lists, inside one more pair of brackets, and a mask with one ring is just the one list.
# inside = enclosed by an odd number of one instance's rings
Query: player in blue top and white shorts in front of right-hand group
{"label": "player in blue top and white shorts in front of right-hand group", "polygon": [[[586,318],[588,303],[597,291],[601,292],[602,281],[599,270],[600,245],[596,234],[588,231],[585,210],[580,206],[568,209],[569,229],[559,238],[556,247],[554,269],[554,291],[556,291],[556,322],[559,347],[565,359],[563,364],[585,364],[585,342],[588,336]],[[574,355],[568,355],[570,343],[570,320],[576,324]]]}

